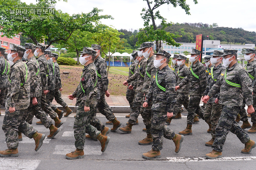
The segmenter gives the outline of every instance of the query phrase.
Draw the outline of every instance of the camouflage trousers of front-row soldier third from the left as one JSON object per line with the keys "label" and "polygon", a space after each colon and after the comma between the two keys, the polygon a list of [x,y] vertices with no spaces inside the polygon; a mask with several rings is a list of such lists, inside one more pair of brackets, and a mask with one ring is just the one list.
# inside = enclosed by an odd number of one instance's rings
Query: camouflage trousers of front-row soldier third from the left
{"label": "camouflage trousers of front-row soldier third from the left", "polygon": [[173,130],[165,126],[166,112],[152,111],[151,135],[153,138],[152,149],[160,151],[163,149],[163,138],[172,139],[175,136]]}

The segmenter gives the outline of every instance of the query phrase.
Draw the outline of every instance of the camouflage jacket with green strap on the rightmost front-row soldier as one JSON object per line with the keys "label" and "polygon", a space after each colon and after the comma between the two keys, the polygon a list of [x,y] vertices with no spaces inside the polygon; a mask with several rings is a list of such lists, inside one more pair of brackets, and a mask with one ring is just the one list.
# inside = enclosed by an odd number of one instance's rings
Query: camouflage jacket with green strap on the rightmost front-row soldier
{"label": "camouflage jacket with green strap on the rightmost front-row soldier", "polygon": [[[238,84],[241,87],[232,86],[228,82]],[[208,96],[211,98],[218,92],[220,93],[220,104],[242,106],[243,97],[248,106],[253,104],[251,80],[247,71],[238,63],[222,71],[217,82],[210,89]]]}

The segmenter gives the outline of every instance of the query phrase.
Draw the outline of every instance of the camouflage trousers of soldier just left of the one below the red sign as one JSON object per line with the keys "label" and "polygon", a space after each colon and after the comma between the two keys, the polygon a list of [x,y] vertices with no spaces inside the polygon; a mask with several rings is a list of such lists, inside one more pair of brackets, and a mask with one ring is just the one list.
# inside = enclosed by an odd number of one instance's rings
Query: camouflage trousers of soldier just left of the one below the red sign
{"label": "camouflage trousers of soldier just left of the one below the red sign", "polygon": [[177,93],[176,103],[174,105],[173,117],[182,112],[182,105],[188,109],[189,98],[187,93]]}

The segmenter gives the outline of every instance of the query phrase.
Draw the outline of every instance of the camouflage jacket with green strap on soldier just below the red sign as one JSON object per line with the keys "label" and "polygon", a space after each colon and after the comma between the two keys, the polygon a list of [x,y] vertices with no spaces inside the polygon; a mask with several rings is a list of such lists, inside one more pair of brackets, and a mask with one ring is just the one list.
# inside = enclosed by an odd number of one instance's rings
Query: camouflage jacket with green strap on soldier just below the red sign
{"label": "camouflage jacket with green strap on soldier just below the red sign", "polygon": [[[192,74],[194,72],[195,76]],[[198,77],[197,77],[198,76]],[[205,76],[205,66],[199,61],[191,64],[189,75],[187,75],[178,85],[180,88],[188,83],[188,95],[202,96],[207,86]]]}

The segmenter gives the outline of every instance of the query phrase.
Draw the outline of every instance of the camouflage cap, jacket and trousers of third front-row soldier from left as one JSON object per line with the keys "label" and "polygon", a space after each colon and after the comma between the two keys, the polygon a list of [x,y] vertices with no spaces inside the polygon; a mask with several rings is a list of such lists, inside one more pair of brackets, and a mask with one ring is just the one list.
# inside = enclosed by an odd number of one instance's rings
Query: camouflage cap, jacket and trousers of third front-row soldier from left
{"label": "camouflage cap, jacket and trousers of third front-row soldier from left", "polygon": [[[166,56],[168,59],[170,54],[166,51],[159,49],[157,54]],[[153,101],[152,119],[151,119],[151,135],[153,138],[152,149],[160,151],[163,149],[163,138],[172,139],[175,136],[173,130],[165,126],[167,119],[167,112],[174,111],[174,104],[176,102],[175,92],[175,74],[169,66],[165,66],[158,70],[153,76],[150,91],[146,95],[146,101]],[[156,81],[159,85],[157,85]],[[161,88],[159,87],[161,86]]]}

